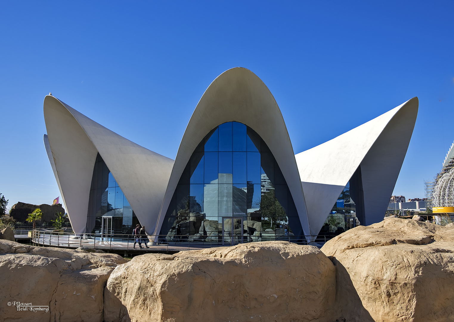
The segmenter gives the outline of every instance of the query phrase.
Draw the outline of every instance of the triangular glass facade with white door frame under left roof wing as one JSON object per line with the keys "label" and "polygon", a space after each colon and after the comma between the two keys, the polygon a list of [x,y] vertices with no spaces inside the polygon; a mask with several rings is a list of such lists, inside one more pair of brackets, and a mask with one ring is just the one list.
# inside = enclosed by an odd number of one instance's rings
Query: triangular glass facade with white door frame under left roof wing
{"label": "triangular glass facade with white door frame under left roof wing", "polygon": [[87,233],[129,233],[137,223],[128,199],[98,154],[90,188]]}

